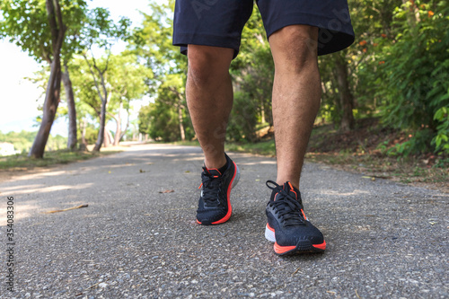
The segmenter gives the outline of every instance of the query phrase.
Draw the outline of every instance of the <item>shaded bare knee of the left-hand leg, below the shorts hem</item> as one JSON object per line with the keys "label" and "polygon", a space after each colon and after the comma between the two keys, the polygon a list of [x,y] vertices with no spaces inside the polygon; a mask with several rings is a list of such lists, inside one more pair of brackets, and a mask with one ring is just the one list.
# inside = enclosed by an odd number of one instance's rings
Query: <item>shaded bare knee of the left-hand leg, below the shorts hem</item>
{"label": "shaded bare knee of the left-hand leg, below the shorts hem", "polygon": [[229,75],[233,49],[189,45],[189,80],[193,84],[208,84],[211,80]]}

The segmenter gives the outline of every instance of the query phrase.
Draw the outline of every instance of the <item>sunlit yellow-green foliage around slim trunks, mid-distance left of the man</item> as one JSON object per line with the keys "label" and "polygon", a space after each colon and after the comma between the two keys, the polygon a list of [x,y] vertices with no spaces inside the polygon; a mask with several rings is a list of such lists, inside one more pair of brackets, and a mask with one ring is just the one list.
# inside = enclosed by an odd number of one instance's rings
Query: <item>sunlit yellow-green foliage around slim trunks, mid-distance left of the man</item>
{"label": "sunlit yellow-green foliage around slim trunks, mid-distance left of the man", "polygon": [[[108,94],[108,101],[106,106],[104,106],[105,124],[110,119],[116,122],[113,144],[118,145],[119,140],[126,134],[128,128],[131,103],[134,100],[141,99],[147,92],[148,86],[146,82],[152,78],[153,74],[150,69],[140,64],[136,56],[131,53],[100,57],[94,61],[99,69],[104,69],[105,65],[108,64],[107,72],[103,75],[101,85],[104,86],[104,92]],[[70,73],[74,81],[77,110],[83,110],[84,117],[82,119],[87,119],[87,115],[90,115],[92,119],[99,119],[100,131],[103,104],[95,84],[95,79],[97,78],[92,76],[91,71],[92,68],[81,57],[75,58],[70,66]],[[125,112],[127,114],[126,119],[123,118]],[[86,128],[86,120],[81,121],[83,121],[83,126]],[[123,128],[124,122],[125,128]],[[103,145],[109,145],[109,141],[110,133],[104,128]]]}

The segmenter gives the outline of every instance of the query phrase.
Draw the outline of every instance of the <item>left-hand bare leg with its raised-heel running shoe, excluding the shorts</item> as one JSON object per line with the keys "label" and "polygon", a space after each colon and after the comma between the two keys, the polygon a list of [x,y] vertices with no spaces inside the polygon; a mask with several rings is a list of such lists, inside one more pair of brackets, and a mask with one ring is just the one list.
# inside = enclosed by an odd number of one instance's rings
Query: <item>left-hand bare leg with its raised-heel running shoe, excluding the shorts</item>
{"label": "left-hand bare leg with its raised-heel running shoe, excluding the shorts", "polygon": [[229,66],[234,50],[206,46],[188,48],[187,104],[193,128],[205,155],[198,200],[198,224],[223,224],[233,213],[231,189],[240,174],[225,155],[225,135],[233,107]]}

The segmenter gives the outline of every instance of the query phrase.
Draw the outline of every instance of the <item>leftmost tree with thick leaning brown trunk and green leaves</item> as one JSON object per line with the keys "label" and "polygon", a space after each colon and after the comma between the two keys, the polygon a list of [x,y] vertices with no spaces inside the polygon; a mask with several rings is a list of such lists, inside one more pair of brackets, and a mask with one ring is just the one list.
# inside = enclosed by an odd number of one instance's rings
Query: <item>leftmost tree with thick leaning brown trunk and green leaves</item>
{"label": "leftmost tree with thick leaning brown trunk and green leaves", "polygon": [[85,5],[84,0],[5,0],[1,4],[0,38],[8,38],[38,62],[50,65],[42,121],[29,154],[32,157],[44,155],[59,104],[61,49],[66,32],[81,22]]}

